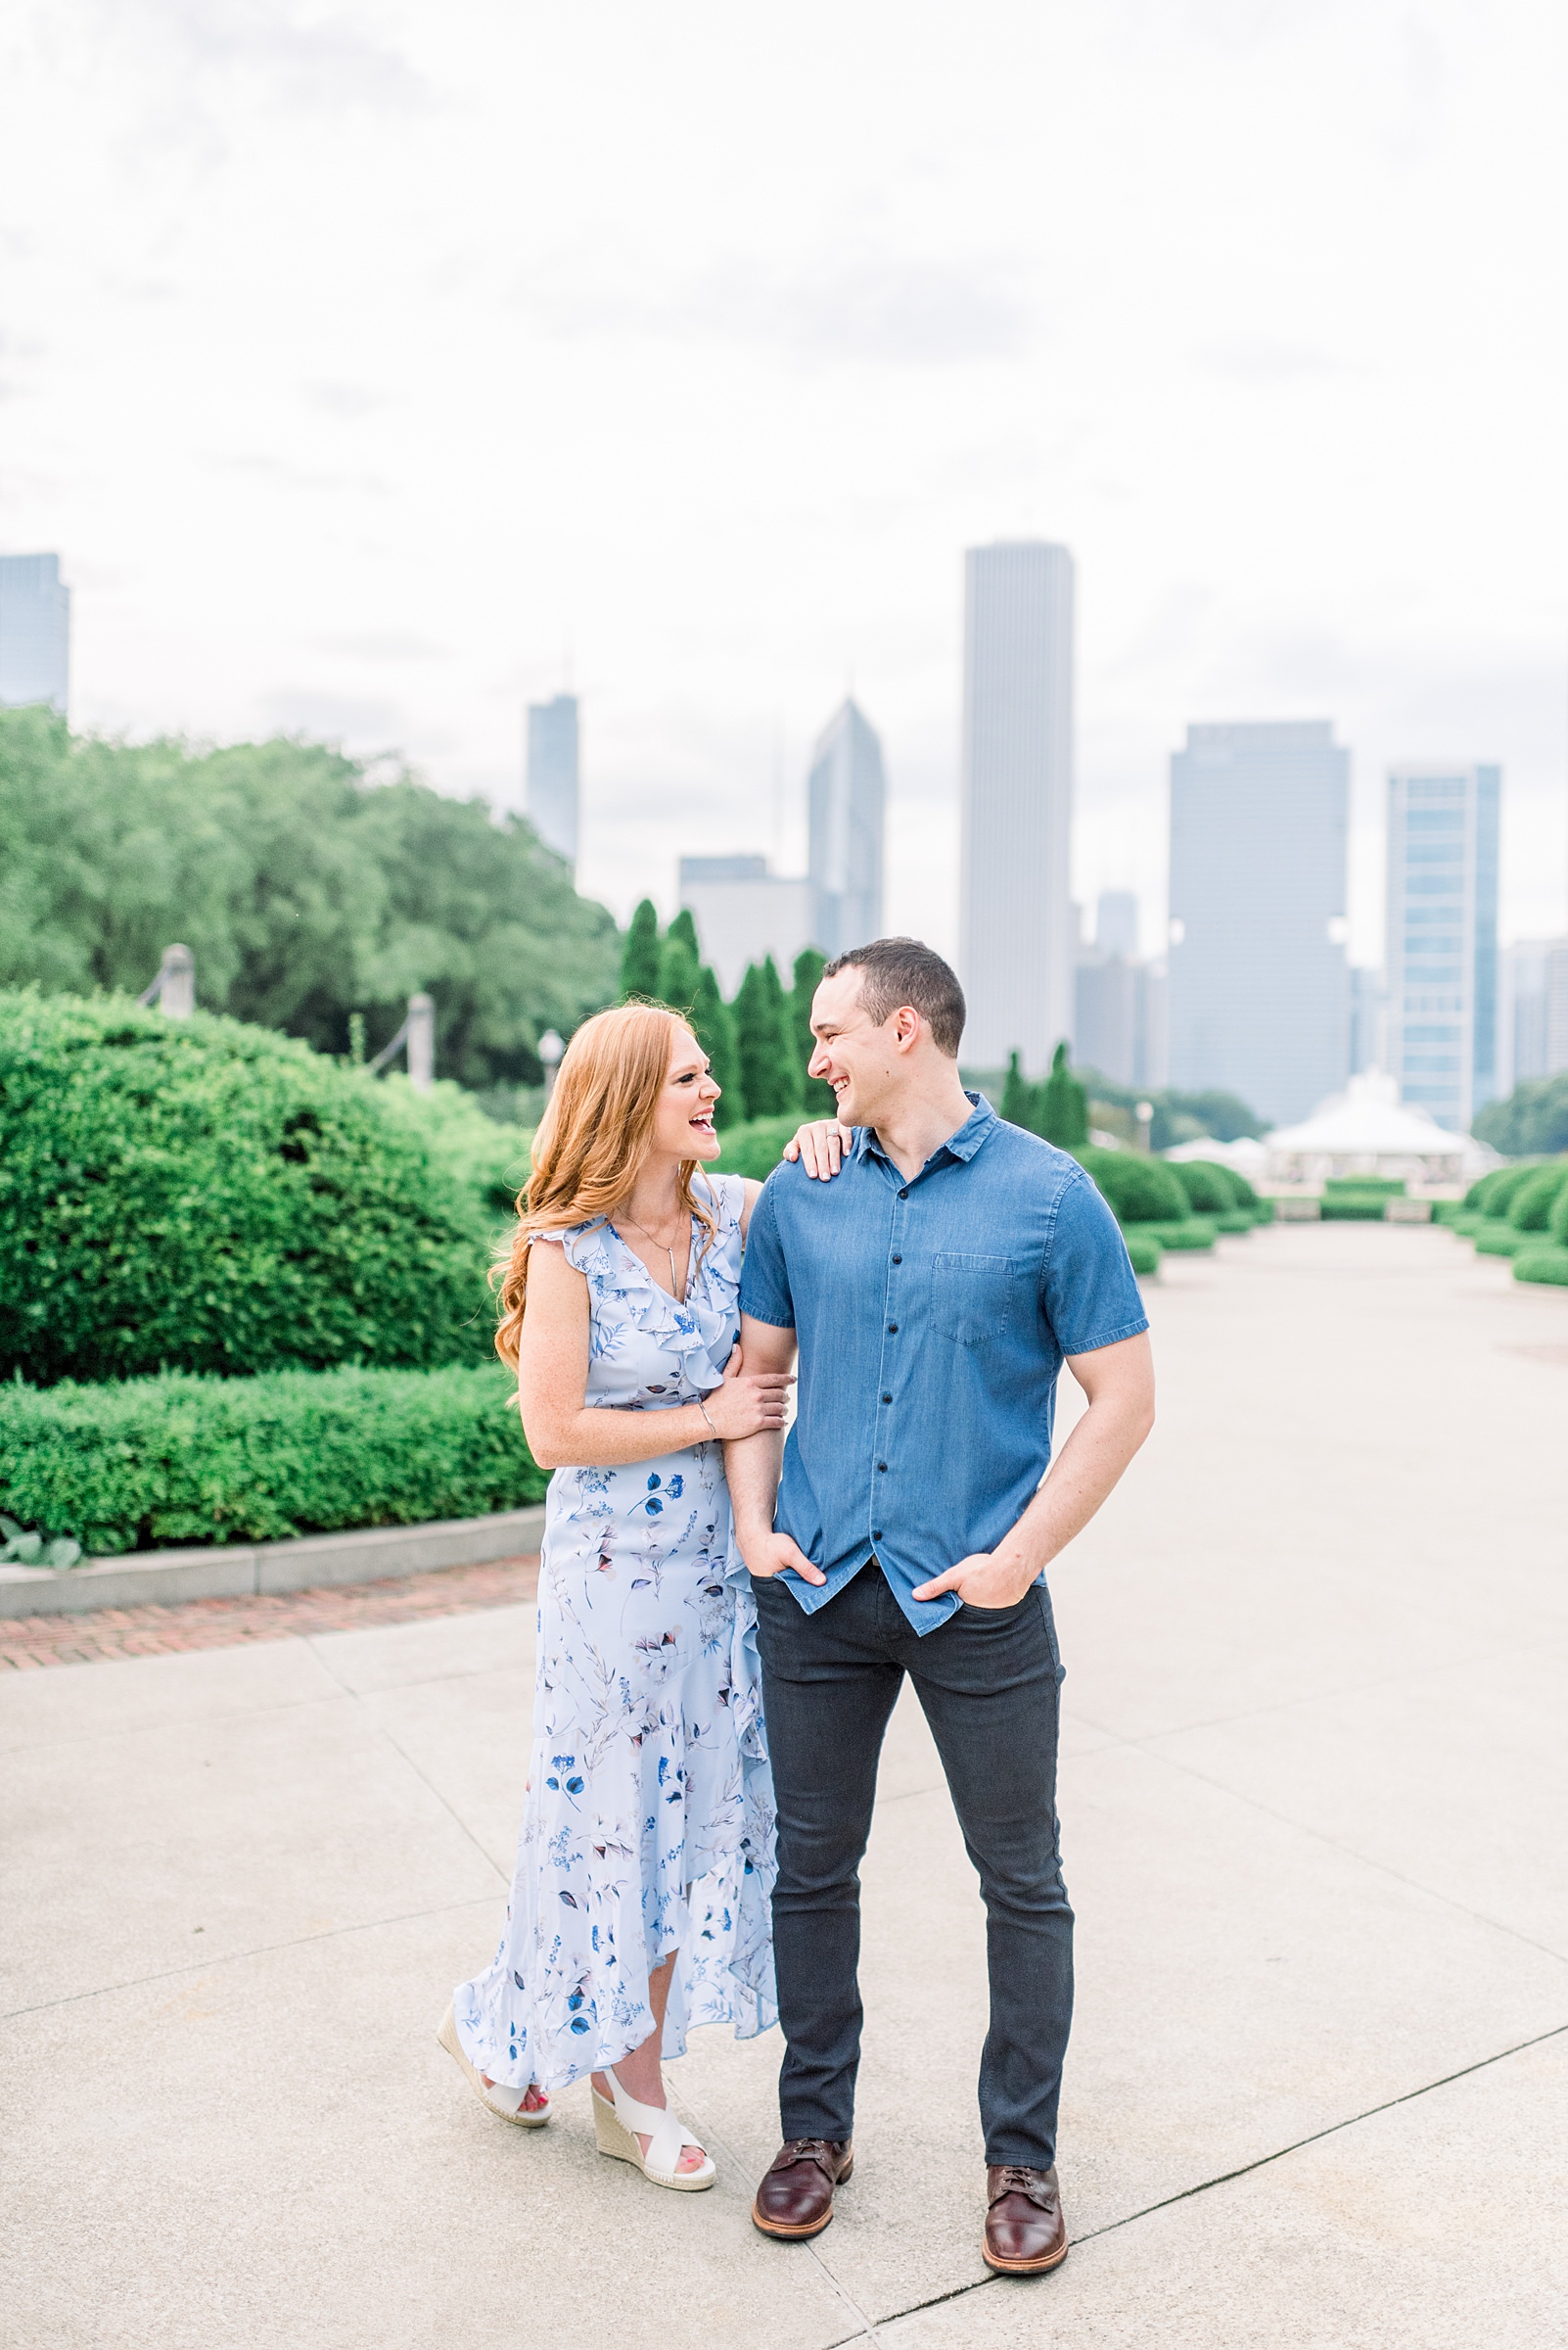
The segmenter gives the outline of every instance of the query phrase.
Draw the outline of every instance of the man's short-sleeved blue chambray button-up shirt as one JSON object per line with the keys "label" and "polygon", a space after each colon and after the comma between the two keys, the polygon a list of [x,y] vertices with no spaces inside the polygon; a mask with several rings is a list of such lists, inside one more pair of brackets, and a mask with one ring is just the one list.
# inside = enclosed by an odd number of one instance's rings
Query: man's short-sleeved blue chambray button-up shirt
{"label": "man's short-sleeved blue chambray button-up shirt", "polygon": [[946,1624],[958,1593],[911,1593],[1028,1509],[1063,1356],[1148,1330],[1077,1161],[969,1100],[913,1180],[861,1126],[833,1182],[779,1166],[751,1210],[742,1314],[800,1344],[775,1523],[826,1574],[784,1577],[807,1612],[876,1553],[915,1631]]}

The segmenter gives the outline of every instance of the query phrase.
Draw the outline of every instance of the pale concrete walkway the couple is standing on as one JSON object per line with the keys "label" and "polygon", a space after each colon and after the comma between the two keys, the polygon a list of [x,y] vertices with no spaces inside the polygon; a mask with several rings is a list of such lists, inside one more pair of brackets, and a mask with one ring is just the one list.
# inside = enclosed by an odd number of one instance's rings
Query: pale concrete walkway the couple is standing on
{"label": "pale concrete walkway the couple is standing on", "polygon": [[5,2341],[1545,2350],[1568,2338],[1568,1295],[1430,1229],[1167,1260],[1160,1429],[1059,1570],[1075,2249],[986,2280],[984,1943],[920,1716],[866,1864],[859,2164],[746,2223],[437,2049],[512,1861],[530,1610],[0,1687]]}

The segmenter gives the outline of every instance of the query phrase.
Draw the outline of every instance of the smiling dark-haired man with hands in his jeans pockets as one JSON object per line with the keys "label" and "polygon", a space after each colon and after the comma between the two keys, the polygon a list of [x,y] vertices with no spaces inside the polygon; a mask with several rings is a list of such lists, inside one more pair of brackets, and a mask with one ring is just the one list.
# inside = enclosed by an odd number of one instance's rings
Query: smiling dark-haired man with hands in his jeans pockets
{"label": "smiling dark-haired man with hands in his jeans pockets", "polygon": [[[1155,1382],[1115,1217],[1073,1159],[965,1093],[962,1025],[955,975],[915,940],[829,964],[810,1074],[852,1147],[833,1184],[810,1154],[777,1168],[751,1215],[746,1370],[789,1370],[800,1347],[789,1441],[725,1445],[779,1812],[784,2148],[751,2216],[817,2235],[850,2176],[857,1866],[908,1673],[986,1899],[984,2256],[1035,2275],[1068,2251],[1054,2162],[1073,2014],[1045,1567],[1148,1436]],[[1089,1408],[1042,1485],[1063,1358]]]}

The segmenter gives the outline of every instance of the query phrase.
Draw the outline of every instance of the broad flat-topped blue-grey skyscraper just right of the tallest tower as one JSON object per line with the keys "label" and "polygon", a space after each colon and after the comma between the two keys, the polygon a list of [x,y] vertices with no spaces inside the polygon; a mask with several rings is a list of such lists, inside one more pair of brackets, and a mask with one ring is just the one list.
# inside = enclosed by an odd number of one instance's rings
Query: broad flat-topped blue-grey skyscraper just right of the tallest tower
{"label": "broad flat-topped blue-grey skyscraper just right of the tallest tower", "polygon": [[1350,752],[1326,721],[1188,726],[1171,757],[1169,1081],[1277,1126],[1350,1055]]}

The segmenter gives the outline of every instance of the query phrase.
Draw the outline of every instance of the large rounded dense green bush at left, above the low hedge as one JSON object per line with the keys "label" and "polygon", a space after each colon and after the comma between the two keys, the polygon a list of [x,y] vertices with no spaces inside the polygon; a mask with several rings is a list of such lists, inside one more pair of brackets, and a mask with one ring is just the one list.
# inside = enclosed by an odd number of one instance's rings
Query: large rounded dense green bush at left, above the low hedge
{"label": "large rounded dense green bush at left, above the low hedge", "polygon": [[0,994],[0,1375],[484,1358],[495,1220],[430,1114],[239,1020]]}

